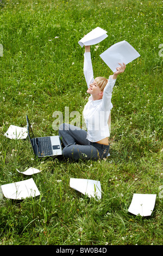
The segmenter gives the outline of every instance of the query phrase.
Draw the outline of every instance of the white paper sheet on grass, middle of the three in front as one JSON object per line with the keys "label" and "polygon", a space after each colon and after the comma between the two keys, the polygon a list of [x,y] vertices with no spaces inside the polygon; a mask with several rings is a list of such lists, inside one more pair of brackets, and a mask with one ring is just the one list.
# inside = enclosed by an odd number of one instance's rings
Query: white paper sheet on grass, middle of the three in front
{"label": "white paper sheet on grass, middle of the three in front", "polygon": [[101,199],[101,183],[97,180],[70,179],[70,187],[74,188],[88,197]]}

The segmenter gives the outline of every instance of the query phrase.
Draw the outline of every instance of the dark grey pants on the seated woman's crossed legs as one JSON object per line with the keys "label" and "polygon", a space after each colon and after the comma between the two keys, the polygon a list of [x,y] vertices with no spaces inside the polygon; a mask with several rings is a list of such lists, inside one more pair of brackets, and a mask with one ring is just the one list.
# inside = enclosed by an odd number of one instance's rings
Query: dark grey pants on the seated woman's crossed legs
{"label": "dark grey pants on the seated woman's crossed legs", "polygon": [[86,139],[87,132],[77,126],[61,124],[59,136],[64,144],[62,154],[66,159],[74,161],[79,159],[98,160],[109,154],[109,145],[90,142]]}

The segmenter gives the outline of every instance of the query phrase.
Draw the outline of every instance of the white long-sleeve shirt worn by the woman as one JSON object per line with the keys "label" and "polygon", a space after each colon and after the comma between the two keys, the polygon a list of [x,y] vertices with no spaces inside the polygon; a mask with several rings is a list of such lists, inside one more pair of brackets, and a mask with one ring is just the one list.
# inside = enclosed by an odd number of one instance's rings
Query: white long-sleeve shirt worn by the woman
{"label": "white long-sleeve shirt worn by the woman", "polygon": [[[89,88],[90,83],[94,81],[90,52],[84,53],[84,76]],[[109,76],[102,99],[93,100],[91,95],[84,107],[83,116],[87,127],[87,139],[91,142],[98,142],[110,136],[108,119],[112,108],[111,96],[115,82],[116,79]]]}

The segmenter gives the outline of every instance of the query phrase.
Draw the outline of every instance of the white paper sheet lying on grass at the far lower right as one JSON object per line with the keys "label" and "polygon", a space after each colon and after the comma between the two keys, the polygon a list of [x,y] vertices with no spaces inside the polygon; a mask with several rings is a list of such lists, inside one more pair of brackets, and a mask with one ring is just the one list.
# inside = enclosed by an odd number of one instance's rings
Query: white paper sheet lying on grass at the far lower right
{"label": "white paper sheet lying on grass at the far lower right", "polygon": [[131,214],[150,216],[154,209],[156,194],[133,194],[128,211]]}

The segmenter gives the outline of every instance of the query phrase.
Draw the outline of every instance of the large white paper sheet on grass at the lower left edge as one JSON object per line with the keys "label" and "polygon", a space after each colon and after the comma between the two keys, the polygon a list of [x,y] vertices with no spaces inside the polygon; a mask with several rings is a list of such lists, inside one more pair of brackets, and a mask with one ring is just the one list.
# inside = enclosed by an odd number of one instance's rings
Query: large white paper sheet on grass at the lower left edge
{"label": "large white paper sheet on grass at the lower left edge", "polygon": [[10,199],[24,199],[40,195],[33,179],[5,184],[1,188],[4,196]]}

